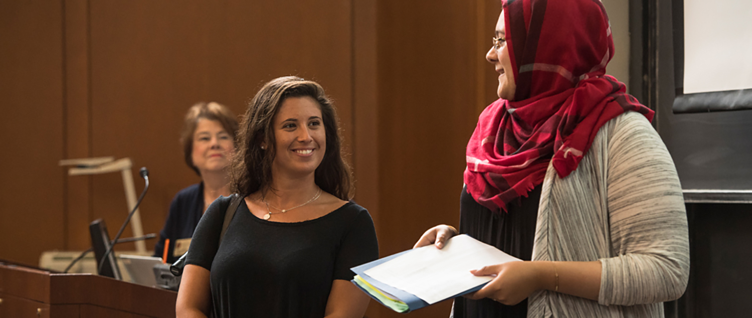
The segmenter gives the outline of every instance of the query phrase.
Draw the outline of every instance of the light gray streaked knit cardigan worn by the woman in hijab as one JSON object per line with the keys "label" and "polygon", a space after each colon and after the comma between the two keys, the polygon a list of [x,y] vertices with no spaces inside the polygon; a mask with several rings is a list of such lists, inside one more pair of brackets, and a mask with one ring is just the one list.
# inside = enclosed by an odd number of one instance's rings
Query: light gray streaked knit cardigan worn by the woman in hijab
{"label": "light gray streaked knit cardigan worn by the woman in hijab", "polygon": [[528,317],[663,317],[690,274],[687,213],[674,162],[644,116],[599,130],[577,170],[543,181],[536,261],[602,263],[598,301],[559,292],[529,297]]}

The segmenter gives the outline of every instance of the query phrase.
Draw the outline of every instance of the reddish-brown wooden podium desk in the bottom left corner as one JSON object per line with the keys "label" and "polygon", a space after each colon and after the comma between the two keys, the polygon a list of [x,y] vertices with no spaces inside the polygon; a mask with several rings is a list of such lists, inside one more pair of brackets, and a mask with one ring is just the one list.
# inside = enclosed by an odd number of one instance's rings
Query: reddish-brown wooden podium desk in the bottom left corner
{"label": "reddish-brown wooden podium desk in the bottom left corner", "polygon": [[0,317],[174,317],[177,292],[0,260]]}

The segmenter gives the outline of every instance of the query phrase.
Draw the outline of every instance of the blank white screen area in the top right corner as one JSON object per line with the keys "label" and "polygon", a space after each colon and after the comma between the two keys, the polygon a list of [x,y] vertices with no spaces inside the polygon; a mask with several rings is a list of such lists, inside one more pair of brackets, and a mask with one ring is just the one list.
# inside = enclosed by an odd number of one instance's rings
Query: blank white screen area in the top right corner
{"label": "blank white screen area in the top right corner", "polygon": [[749,0],[684,0],[685,94],[752,88],[750,13]]}

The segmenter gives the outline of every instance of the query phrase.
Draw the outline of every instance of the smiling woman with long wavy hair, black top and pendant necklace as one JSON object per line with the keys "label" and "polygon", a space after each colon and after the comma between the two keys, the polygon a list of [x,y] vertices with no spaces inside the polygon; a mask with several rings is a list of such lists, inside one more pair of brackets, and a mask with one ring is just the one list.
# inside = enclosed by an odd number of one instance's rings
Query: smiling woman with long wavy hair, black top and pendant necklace
{"label": "smiling woman with long wavy hair, black top and pendant necklace", "polygon": [[378,258],[368,211],[350,199],[335,110],[317,83],[266,83],[245,114],[232,163],[244,197],[219,244],[230,198],[199,223],[177,316],[362,317],[351,267]]}

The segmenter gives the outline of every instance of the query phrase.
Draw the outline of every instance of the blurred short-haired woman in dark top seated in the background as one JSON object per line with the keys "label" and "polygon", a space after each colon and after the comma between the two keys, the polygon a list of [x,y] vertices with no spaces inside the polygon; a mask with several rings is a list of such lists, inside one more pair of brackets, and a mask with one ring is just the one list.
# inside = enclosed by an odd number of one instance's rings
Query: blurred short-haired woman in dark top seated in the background
{"label": "blurred short-haired woman in dark top seated in the background", "polygon": [[[159,232],[154,256],[174,262],[188,250],[193,230],[207,207],[220,195],[230,195],[228,166],[235,151],[238,120],[222,104],[201,102],[186,114],[180,143],[186,164],[201,177],[201,182],[177,192],[170,204],[170,214]],[[165,246],[165,240],[170,243]]]}

